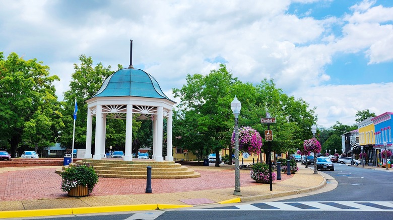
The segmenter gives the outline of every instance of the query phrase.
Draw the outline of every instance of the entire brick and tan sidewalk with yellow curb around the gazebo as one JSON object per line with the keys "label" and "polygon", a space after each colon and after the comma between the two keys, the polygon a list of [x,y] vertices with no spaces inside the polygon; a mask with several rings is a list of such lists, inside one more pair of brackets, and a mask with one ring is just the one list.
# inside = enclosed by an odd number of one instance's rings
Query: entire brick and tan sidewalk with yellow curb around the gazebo
{"label": "entire brick and tan sidewalk with yellow curb around the gazebo", "polygon": [[[99,178],[87,197],[68,197],[60,189],[61,166],[0,168],[0,218],[71,213],[135,211],[190,207],[274,198],[315,191],[326,180],[299,165],[296,174],[282,173],[282,180],[255,183],[250,170],[240,170],[241,196],[234,196],[234,167],[189,166],[199,178],[152,179],[153,193],[145,193],[146,179]],[[49,209],[49,210],[42,210]]]}

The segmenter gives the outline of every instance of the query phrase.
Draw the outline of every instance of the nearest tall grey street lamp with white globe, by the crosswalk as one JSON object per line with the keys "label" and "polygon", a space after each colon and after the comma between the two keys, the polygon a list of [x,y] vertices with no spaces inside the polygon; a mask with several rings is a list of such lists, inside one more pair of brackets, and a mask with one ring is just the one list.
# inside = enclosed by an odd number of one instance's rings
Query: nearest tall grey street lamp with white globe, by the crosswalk
{"label": "nearest tall grey street lamp with white globe, by the crosswalk", "polygon": [[241,195],[240,192],[240,169],[239,169],[239,127],[238,127],[238,117],[240,114],[241,103],[237,100],[236,95],[231,102],[231,109],[233,115],[235,116],[235,191],[234,195]]}

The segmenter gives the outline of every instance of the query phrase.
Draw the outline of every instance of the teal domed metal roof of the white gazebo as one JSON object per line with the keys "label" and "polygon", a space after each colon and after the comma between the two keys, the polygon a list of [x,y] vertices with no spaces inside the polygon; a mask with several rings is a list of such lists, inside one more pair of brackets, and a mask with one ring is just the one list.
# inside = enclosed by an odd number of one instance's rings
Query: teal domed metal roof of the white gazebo
{"label": "teal domed metal roof of the white gazebo", "polygon": [[93,97],[115,96],[163,98],[172,101],[162,92],[153,76],[141,69],[134,68],[116,71],[105,79],[101,88],[93,95]]}

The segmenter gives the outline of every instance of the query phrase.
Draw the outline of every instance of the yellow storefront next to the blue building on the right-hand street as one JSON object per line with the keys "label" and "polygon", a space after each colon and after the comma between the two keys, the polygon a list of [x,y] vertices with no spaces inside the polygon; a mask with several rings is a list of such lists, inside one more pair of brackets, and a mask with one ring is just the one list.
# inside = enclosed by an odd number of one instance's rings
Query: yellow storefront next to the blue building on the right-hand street
{"label": "yellow storefront next to the blue building on the right-hand street", "polygon": [[357,126],[359,129],[360,148],[363,146],[363,151],[367,154],[366,164],[375,166],[377,163],[379,163],[378,161],[375,161],[375,155],[379,152],[375,152],[373,147],[373,145],[375,145],[375,128],[371,119],[373,118],[368,118],[357,124]]}

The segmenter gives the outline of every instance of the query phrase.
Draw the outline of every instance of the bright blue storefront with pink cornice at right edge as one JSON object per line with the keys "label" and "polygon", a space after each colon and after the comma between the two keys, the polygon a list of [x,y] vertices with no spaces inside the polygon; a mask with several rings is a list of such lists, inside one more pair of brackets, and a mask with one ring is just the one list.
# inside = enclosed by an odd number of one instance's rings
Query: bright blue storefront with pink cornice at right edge
{"label": "bright blue storefront with pink cornice at right edge", "polygon": [[[383,150],[393,150],[392,138],[391,138],[391,127],[393,126],[392,116],[393,113],[386,112],[373,119],[371,121],[374,124],[375,132],[375,153],[377,164],[384,164],[385,159],[382,160],[381,152]],[[391,158],[388,158],[391,159]]]}

